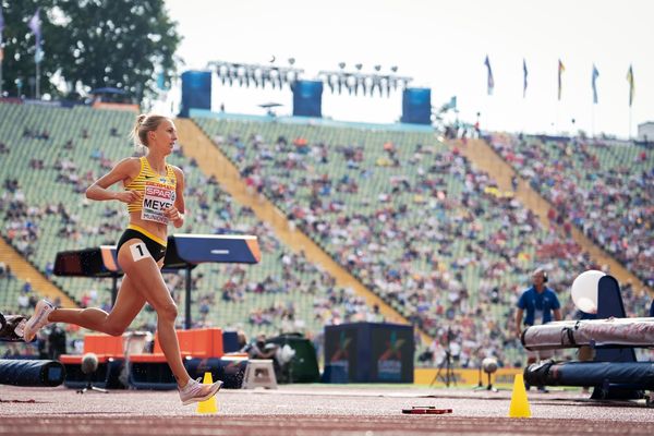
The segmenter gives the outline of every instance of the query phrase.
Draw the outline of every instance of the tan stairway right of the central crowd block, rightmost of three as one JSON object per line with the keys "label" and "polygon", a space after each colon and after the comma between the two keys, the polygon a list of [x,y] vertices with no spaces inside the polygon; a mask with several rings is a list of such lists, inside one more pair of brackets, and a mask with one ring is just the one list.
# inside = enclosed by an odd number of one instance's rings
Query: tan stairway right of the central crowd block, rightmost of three
{"label": "tan stairway right of the central crowd block, rightmost of three", "polygon": [[[553,205],[534,191],[529,181],[522,179],[516,170],[499,156],[493,147],[482,140],[469,140],[467,145],[462,145],[460,141],[448,142],[451,147],[459,147],[463,156],[465,156],[476,168],[486,171],[491,178],[497,181],[500,191],[512,191],[511,179],[518,177],[518,190],[514,192],[516,197],[538,216],[543,227],[549,228],[552,225],[547,219],[547,211]],[[564,232],[559,226],[557,229]],[[614,276],[620,283],[631,281],[635,289],[649,289],[637,276],[631,274],[627,268],[617,262],[613,256],[606,253],[602,247],[586,238],[576,226],[572,226],[572,239],[591,254],[591,257],[600,265],[607,265],[610,275]],[[581,274],[583,271],[571,271],[571,274]],[[649,289],[650,293],[654,293]]]}

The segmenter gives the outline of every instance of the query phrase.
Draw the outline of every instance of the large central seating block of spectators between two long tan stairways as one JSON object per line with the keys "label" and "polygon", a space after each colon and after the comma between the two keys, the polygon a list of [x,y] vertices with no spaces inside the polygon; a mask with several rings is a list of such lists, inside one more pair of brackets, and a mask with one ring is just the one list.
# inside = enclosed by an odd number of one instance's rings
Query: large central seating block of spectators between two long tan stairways
{"label": "large central seating block of spectators between two long tan stairways", "polygon": [[195,121],[253,191],[428,334],[456,325],[468,354],[511,354],[512,307],[536,266],[567,291],[569,271],[592,265],[433,134]]}

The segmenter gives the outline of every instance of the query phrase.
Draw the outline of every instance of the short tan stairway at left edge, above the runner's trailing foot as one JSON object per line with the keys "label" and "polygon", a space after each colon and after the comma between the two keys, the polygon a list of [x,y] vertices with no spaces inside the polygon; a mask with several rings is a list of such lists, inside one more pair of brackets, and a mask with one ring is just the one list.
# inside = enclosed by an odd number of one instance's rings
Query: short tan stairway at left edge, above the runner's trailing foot
{"label": "short tan stairway at left edge, above the runner's trailing foot", "polygon": [[0,238],[0,259],[11,267],[13,275],[16,276],[19,280],[29,280],[33,289],[41,296],[50,301],[59,299],[61,301],[61,307],[77,307],[77,304],[71,300],[70,296],[25,261],[25,258],[2,238]]}

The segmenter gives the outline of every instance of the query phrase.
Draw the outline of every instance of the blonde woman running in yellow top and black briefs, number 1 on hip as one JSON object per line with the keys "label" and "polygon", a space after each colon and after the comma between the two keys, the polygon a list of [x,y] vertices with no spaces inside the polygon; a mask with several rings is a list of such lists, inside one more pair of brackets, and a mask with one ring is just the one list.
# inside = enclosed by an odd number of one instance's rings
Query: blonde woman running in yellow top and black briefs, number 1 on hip
{"label": "blonde woman running in yellow top and black briefs, number 1 on hip", "polygon": [[[203,385],[189,376],[182,363],[174,331],[178,307],[172,300],[161,267],[166,256],[168,225],[184,223],[184,174],[166,164],[177,142],[172,121],[157,114],[141,114],[132,132],[134,142],[147,149],[145,156],[121,160],[109,173],[99,178],[86,191],[95,201],[125,203],[130,223],[118,242],[118,263],[124,277],[110,313],[100,308],[58,308],[46,300],[37,303],[27,320],[24,339],[29,342],[48,323],[76,324],[107,335],[122,335],[145,303],[157,312],[159,343],[177,379],[183,404],[211,398],[222,386],[218,380]],[[109,187],[122,182],[123,191]]]}

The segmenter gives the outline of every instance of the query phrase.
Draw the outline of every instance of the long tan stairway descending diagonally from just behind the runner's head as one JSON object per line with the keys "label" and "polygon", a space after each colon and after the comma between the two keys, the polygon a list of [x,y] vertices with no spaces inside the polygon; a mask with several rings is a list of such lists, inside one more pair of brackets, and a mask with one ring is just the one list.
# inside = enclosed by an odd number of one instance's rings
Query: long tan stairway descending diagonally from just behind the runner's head
{"label": "long tan stairway descending diagonally from just behind the runner's head", "polygon": [[[304,252],[310,262],[320,265],[326,271],[332,275],[339,287],[353,289],[371,306],[377,304],[380,313],[388,322],[411,324],[396,310],[379,299],[379,296],[363,286],[350,272],[334,262],[327,253],[303,232],[291,230],[283,213],[267,198],[247,192],[246,185],[239,174],[239,170],[195,122],[189,119],[177,119],[175,126],[184,155],[195,159],[198,168],[205,174],[215,175],[221,187],[240,205],[252,208],[259,220],[270,225],[277,238],[290,250],[293,252]],[[193,210],[190,210],[190,214],[193,214]],[[432,341],[427,335],[423,332],[421,335],[425,343]]]}

